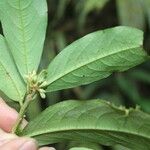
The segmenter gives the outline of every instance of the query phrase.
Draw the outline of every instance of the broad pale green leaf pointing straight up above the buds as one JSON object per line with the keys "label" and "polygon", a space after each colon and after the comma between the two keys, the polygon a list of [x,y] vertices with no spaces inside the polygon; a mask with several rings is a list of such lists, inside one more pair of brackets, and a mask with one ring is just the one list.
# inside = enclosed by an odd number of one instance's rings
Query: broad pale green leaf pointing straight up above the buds
{"label": "broad pale green leaf pointing straight up above the buds", "polygon": [[47,25],[46,0],[1,0],[0,19],[21,75],[36,71]]}

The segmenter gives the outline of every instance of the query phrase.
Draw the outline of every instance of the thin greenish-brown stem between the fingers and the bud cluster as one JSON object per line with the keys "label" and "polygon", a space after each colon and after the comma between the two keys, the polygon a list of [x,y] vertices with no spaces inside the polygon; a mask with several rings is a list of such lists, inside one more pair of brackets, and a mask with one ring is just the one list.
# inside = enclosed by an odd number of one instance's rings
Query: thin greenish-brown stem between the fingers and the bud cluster
{"label": "thin greenish-brown stem between the fingers and the bud cluster", "polygon": [[19,130],[20,124],[22,123],[22,120],[23,120],[24,115],[26,113],[26,110],[27,110],[30,102],[33,100],[34,95],[35,95],[35,93],[28,94],[26,96],[24,104],[20,108],[19,116],[17,118],[17,121],[16,121],[14,127],[12,128],[12,132],[11,133],[17,134],[17,131]]}

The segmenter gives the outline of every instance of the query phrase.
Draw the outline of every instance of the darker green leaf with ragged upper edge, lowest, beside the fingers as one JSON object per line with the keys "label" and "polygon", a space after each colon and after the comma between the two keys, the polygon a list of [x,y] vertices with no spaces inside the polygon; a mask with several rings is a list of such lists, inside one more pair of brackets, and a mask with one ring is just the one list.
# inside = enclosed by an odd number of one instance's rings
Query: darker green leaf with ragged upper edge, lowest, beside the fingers
{"label": "darker green leaf with ragged upper edge, lowest, beside the fingers", "polygon": [[102,100],[72,100],[47,108],[22,135],[35,138],[40,145],[72,140],[149,150],[150,115]]}

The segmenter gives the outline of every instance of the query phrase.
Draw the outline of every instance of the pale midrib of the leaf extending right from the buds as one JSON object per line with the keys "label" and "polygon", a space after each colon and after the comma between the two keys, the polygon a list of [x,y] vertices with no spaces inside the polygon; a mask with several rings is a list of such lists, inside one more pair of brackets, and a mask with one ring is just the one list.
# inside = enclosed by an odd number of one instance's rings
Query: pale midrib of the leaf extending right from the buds
{"label": "pale midrib of the leaf extending right from the buds", "polygon": [[[140,46],[139,46],[139,47],[140,47]],[[115,53],[111,53],[111,54],[109,54],[109,55],[107,55],[107,56],[105,55],[105,56],[100,57],[100,58],[98,58],[98,59],[95,59],[95,60],[93,59],[92,61],[90,61],[90,62],[88,62],[88,63],[84,63],[83,65],[78,66],[77,68],[73,68],[72,70],[68,71],[67,73],[65,73],[65,74],[62,75],[62,76],[61,76],[61,75],[58,76],[58,78],[52,80],[51,82],[48,82],[48,83],[49,83],[49,86],[50,86],[51,84],[55,83],[56,81],[58,81],[59,79],[63,78],[64,76],[70,74],[71,72],[76,71],[76,70],[78,70],[78,69],[80,69],[80,68],[82,68],[82,67],[84,67],[84,66],[86,66],[86,65],[89,65],[89,64],[91,64],[91,63],[93,63],[93,62],[95,62],[95,61],[98,61],[98,60],[100,60],[100,59],[109,57],[109,56],[114,55],[114,54],[117,54],[117,53],[125,52],[125,51],[130,50],[130,49],[136,49],[136,48],[139,48],[139,47],[131,47],[131,48],[127,48],[127,49],[121,49],[120,51],[115,52]],[[57,57],[57,56],[56,56],[56,57]]]}

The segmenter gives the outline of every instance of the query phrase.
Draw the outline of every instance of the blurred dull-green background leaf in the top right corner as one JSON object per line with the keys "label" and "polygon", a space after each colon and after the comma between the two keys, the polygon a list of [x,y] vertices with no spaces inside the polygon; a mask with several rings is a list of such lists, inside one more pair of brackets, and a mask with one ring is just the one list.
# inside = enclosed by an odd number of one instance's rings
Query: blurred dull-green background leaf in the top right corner
{"label": "blurred dull-green background leaf in the top right corner", "polygon": [[135,0],[117,0],[117,10],[121,25],[145,28],[145,14],[141,0],[136,2]]}

